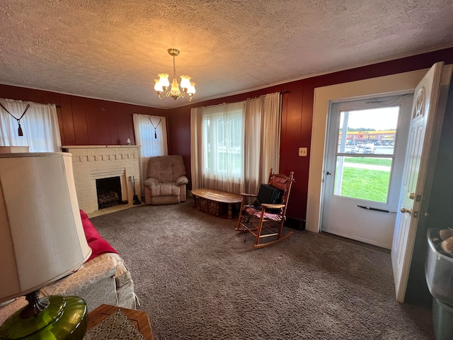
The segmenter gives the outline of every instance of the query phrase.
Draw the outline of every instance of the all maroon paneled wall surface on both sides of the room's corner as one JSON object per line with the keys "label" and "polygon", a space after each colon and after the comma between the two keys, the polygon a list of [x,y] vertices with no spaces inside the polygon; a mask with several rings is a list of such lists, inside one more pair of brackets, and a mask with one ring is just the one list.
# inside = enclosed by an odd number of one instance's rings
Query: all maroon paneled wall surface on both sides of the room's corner
{"label": "all maroon paneled wall surface on both sides of the room's corner", "polygon": [[134,144],[132,113],[166,116],[168,153],[183,155],[190,178],[190,108],[243,101],[246,98],[253,98],[276,91],[285,92],[282,96],[280,171],[282,173],[294,171],[296,182],[289,200],[288,215],[296,220],[304,220],[308,189],[309,155],[308,157],[299,157],[297,150],[299,147],[308,147],[310,153],[314,89],[348,81],[429,68],[435,62],[442,60],[445,61],[445,64],[453,63],[453,48],[292,81],[246,94],[200,103],[190,103],[187,106],[171,110],[56,94],[49,91],[1,84],[0,98],[57,104],[62,145],[124,145],[128,137]]}

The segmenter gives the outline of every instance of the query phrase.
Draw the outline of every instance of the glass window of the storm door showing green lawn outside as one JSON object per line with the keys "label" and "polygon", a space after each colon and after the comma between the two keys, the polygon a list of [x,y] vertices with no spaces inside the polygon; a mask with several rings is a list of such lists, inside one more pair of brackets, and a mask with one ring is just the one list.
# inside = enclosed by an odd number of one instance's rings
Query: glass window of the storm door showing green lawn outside
{"label": "glass window of the storm door showing green lawn outside", "polygon": [[334,195],[388,202],[399,111],[340,112]]}

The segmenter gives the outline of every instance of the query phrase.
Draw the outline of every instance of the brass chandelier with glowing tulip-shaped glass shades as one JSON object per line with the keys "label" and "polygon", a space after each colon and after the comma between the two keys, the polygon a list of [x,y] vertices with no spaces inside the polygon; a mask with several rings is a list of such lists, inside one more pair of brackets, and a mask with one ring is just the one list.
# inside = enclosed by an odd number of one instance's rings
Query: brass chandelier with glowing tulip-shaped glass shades
{"label": "brass chandelier with glowing tulip-shaped glass shades", "polygon": [[167,91],[168,86],[170,86],[168,74],[160,73],[159,79],[156,79],[154,90],[156,90],[159,99],[165,99],[171,96],[175,101],[179,97],[185,98],[186,101],[191,101],[192,96],[195,94],[195,83],[190,81],[189,76],[181,76],[181,88],[183,91],[179,90],[179,84],[176,80],[175,66],[175,57],[179,55],[179,50],[176,50],[176,48],[169,48],[167,51],[168,54],[173,57],[173,81],[171,82],[171,89]]}

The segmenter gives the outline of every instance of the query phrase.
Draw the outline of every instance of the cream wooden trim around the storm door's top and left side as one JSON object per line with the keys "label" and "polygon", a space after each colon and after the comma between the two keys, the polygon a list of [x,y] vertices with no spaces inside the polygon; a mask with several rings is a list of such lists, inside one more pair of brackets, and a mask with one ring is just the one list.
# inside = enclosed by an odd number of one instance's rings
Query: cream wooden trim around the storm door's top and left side
{"label": "cream wooden trim around the storm door's top and left side", "polygon": [[325,173],[328,112],[333,101],[394,95],[413,92],[428,69],[420,69],[390,76],[351,81],[344,84],[323,86],[314,89],[313,123],[311,125],[311,150],[309,163],[309,186],[306,203],[305,229],[321,232],[323,178]]}

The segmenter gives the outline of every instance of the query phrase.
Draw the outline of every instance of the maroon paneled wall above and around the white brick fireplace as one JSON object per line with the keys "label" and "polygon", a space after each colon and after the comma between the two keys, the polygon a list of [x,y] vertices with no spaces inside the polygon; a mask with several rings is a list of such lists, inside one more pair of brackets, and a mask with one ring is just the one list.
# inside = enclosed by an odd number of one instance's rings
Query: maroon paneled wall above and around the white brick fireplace
{"label": "maroon paneled wall above and around the white brick fireplace", "polygon": [[166,116],[167,111],[100,99],[0,84],[0,98],[55,103],[62,145],[135,144],[132,113]]}

